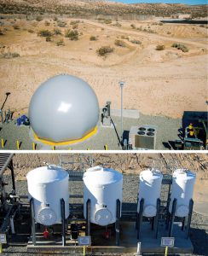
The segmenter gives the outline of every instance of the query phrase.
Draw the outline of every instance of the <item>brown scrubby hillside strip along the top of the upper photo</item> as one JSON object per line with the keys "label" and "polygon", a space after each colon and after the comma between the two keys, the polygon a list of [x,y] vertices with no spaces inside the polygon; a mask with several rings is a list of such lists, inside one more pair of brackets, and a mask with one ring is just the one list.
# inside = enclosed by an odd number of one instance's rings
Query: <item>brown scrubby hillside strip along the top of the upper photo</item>
{"label": "brown scrubby hillside strip along the top of the upper photo", "polygon": [[176,13],[193,17],[207,16],[207,5],[165,3],[124,4],[96,0],[1,0],[3,14],[57,14],[57,15],[156,15],[170,16]]}

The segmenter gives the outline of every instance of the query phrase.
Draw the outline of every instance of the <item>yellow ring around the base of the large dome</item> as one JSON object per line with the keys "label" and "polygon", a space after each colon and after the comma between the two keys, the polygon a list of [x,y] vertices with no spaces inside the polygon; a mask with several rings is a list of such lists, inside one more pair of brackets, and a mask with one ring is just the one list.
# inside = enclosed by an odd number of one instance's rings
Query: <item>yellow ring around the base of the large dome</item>
{"label": "yellow ring around the base of the large dome", "polygon": [[49,142],[47,140],[41,139],[41,138],[38,137],[38,135],[35,132],[34,132],[34,138],[38,142],[44,143],[44,144],[47,144],[47,145],[50,145],[50,146],[66,146],[66,145],[74,144],[74,143],[82,143],[86,139],[95,135],[96,132],[97,132],[97,126],[95,126],[95,128],[93,128],[90,132],[88,132],[86,135],[84,135],[84,137],[81,137],[80,139],[72,140],[72,141],[68,141],[68,142],[62,142],[62,143]]}

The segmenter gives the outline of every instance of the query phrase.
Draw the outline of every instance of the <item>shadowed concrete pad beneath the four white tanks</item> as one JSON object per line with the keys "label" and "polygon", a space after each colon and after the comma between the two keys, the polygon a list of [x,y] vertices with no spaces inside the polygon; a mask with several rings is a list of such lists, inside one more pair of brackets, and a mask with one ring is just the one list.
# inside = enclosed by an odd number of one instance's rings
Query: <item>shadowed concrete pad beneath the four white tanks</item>
{"label": "shadowed concrete pad beneath the four white tanks", "polygon": [[[115,235],[112,234],[109,239],[105,239],[103,233],[104,227],[91,225],[92,245],[87,247],[87,251],[92,253],[136,253],[137,238],[135,222],[121,222],[119,246],[115,246]],[[141,230],[142,253],[165,253],[165,247],[160,247],[161,237],[167,236],[165,225],[159,226],[159,236],[156,239],[149,223],[142,223]],[[181,230],[178,223],[174,224],[173,236],[175,236],[175,246],[169,248],[169,253],[193,253],[193,245],[189,239],[186,239],[186,233]],[[32,238],[28,242],[27,251],[62,251],[67,250],[72,253],[76,250],[81,252],[83,247],[79,247],[75,241],[70,241],[66,236],[66,247],[61,246],[61,236],[56,240],[45,241],[42,234],[37,234],[37,245],[32,245]]]}

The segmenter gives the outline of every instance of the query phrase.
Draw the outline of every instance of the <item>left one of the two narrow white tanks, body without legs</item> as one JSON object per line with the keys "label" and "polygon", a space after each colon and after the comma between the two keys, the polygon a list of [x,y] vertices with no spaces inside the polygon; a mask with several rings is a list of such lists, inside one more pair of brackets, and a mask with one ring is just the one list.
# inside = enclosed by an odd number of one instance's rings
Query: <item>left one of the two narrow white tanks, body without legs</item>
{"label": "left one of the two narrow white tanks, body without legs", "polygon": [[145,170],[140,173],[139,197],[137,212],[140,211],[140,201],[144,199],[142,215],[154,217],[157,213],[157,200],[160,196],[163,174],[156,169]]}

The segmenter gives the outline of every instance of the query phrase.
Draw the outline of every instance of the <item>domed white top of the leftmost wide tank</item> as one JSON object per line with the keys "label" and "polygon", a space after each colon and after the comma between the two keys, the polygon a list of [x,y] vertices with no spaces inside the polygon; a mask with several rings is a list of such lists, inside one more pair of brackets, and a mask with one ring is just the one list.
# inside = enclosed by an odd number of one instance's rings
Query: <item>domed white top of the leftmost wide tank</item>
{"label": "domed white top of the leftmost wide tank", "polygon": [[26,179],[34,183],[52,183],[68,177],[68,172],[60,166],[42,166],[27,173]]}

